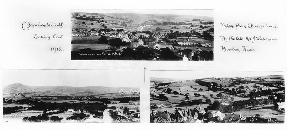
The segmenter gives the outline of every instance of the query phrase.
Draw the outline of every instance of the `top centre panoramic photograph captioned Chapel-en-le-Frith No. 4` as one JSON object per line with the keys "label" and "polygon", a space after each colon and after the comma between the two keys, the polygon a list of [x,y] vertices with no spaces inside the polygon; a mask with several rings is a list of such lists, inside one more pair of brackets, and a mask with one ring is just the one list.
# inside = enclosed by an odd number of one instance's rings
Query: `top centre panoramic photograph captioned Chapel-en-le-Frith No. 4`
{"label": "top centre panoramic photograph captioned Chapel-en-le-Frith No. 4", "polygon": [[71,60],[213,61],[213,10],[71,9]]}

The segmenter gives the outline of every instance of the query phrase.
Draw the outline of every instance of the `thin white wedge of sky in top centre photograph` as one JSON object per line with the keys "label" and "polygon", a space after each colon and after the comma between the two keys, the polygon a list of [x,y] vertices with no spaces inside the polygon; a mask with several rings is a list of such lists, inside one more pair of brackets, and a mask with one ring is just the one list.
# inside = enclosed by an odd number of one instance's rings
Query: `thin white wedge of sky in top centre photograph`
{"label": "thin white wedge of sky in top centre photograph", "polygon": [[87,13],[143,13],[143,14],[178,14],[213,17],[213,10],[192,9],[71,9],[75,12]]}

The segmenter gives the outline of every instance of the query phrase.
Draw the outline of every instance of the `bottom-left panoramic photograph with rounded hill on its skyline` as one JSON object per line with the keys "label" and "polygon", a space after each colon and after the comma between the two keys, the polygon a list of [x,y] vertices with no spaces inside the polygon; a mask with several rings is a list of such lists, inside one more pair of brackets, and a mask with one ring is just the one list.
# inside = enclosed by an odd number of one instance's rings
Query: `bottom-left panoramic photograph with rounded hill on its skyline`
{"label": "bottom-left panoramic photograph with rounded hill on its skyline", "polygon": [[135,72],[3,70],[3,122],[139,122]]}

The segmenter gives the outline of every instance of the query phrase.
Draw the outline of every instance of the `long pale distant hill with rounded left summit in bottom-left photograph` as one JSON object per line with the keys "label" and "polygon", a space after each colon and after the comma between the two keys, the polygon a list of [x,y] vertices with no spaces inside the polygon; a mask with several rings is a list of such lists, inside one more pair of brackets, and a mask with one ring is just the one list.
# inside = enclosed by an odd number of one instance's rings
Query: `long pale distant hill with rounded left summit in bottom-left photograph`
{"label": "long pale distant hill with rounded left summit in bottom-left photograph", "polygon": [[121,89],[139,91],[139,88],[112,88],[102,86],[71,87],[71,86],[26,86],[23,84],[10,84],[3,86],[5,94],[29,93],[36,95],[54,96],[85,96],[107,93],[119,93]]}

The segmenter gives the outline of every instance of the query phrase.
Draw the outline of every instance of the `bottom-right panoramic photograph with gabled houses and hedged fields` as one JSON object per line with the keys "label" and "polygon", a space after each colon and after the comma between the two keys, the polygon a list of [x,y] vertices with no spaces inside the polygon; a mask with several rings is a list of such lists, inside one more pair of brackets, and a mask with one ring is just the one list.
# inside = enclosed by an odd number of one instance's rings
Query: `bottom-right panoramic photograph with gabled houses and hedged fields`
{"label": "bottom-right panoramic photograph with gabled houses and hedged fields", "polygon": [[283,74],[151,71],[150,123],[284,123]]}

